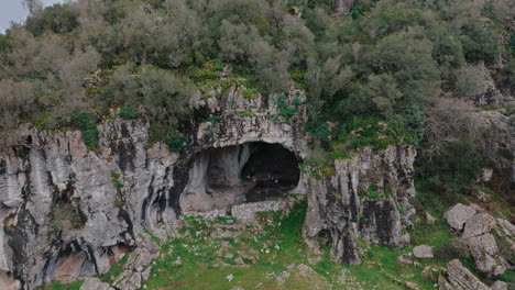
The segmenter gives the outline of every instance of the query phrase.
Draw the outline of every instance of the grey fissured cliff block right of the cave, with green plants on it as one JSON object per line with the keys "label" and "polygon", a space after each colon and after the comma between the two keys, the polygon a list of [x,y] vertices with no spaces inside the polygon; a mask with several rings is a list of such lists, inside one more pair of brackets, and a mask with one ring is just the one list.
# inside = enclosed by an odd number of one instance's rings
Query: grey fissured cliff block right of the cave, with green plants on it
{"label": "grey fissured cliff block right of the cave, with green plants on it", "polygon": [[303,235],[308,246],[318,250],[318,237],[327,235],[335,260],[358,264],[358,237],[373,244],[407,245],[409,235],[402,230],[409,226],[407,215],[414,212],[409,202],[415,194],[414,158],[415,150],[408,146],[390,146],[380,154],[366,148],[350,159],[336,160],[333,176],[305,177],[308,210]]}

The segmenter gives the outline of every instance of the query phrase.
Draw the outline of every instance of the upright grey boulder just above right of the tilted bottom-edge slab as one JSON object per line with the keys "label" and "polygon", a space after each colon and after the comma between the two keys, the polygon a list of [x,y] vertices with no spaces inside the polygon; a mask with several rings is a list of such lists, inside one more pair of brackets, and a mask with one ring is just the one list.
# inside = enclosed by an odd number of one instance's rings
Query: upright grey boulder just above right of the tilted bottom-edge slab
{"label": "upright grey boulder just above right of the tilted bottom-edge slab", "polygon": [[473,236],[464,239],[464,242],[474,258],[475,268],[479,271],[493,277],[502,275],[506,270],[506,259],[498,252],[493,235]]}

